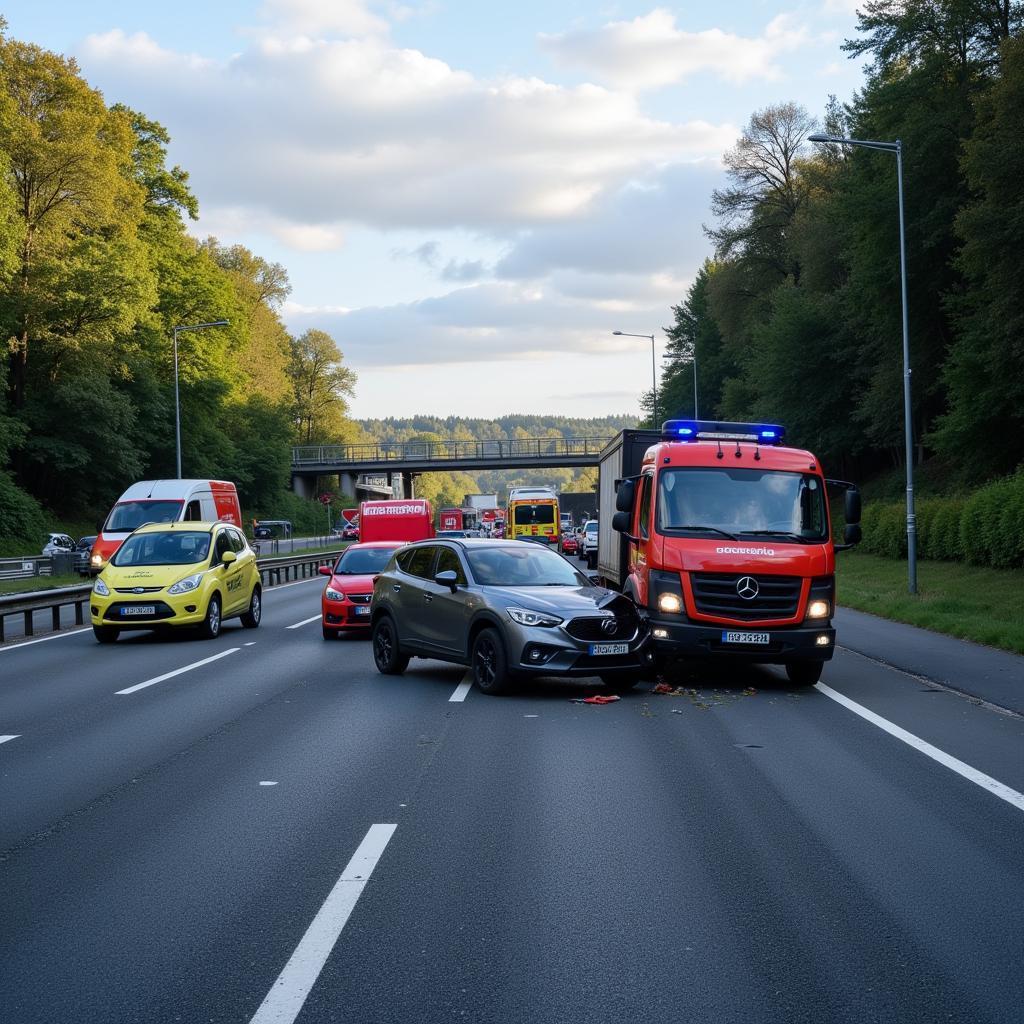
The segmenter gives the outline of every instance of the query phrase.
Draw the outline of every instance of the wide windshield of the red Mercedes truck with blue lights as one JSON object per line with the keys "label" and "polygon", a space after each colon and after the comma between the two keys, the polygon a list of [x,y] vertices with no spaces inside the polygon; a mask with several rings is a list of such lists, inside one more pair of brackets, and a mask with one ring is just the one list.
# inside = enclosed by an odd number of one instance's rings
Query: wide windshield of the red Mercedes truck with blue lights
{"label": "wide windshield of the red Mercedes truck with blue lights", "polygon": [[828,539],[824,488],[812,473],[666,469],[657,482],[657,530],[821,544]]}

